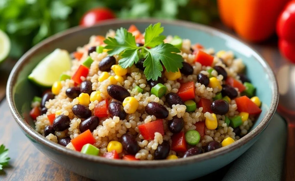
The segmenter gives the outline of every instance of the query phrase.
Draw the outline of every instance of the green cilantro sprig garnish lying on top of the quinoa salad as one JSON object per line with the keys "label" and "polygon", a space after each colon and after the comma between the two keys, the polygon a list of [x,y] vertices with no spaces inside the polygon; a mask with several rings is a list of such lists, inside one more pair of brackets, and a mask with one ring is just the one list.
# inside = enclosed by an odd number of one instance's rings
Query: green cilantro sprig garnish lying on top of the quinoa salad
{"label": "green cilantro sprig garnish lying on top of the quinoa salad", "polygon": [[135,36],[127,29],[120,28],[116,31],[114,38],[108,37],[104,40],[109,55],[120,54],[122,59],[119,65],[123,68],[131,67],[139,59],[145,58],[143,66],[144,74],[148,80],[157,80],[162,76],[163,67],[168,72],[177,72],[182,67],[183,58],[179,53],[180,50],[171,44],[164,43],[166,38],[163,33],[164,28],[160,23],[150,24],[145,29],[145,44],[141,47],[136,46]]}

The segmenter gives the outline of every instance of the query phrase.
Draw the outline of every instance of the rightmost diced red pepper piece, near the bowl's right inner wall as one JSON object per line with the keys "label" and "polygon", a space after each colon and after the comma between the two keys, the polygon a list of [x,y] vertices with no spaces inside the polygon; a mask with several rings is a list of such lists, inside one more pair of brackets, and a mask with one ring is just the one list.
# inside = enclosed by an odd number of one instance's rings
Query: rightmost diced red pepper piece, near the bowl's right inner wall
{"label": "rightmost diced red pepper piece, near the bowl's right inner wall", "polygon": [[247,96],[235,98],[235,101],[239,112],[248,112],[249,114],[259,114],[261,112],[261,109]]}

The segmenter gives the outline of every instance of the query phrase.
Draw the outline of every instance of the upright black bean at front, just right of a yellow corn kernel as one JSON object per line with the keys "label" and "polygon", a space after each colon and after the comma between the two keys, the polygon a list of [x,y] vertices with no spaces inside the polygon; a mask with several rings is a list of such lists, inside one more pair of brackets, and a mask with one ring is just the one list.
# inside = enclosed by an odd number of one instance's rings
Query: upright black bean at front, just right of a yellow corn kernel
{"label": "upright black bean at front, just right of a yellow corn kernel", "polygon": [[131,134],[123,134],[121,143],[128,154],[135,155],[140,150],[135,138]]}

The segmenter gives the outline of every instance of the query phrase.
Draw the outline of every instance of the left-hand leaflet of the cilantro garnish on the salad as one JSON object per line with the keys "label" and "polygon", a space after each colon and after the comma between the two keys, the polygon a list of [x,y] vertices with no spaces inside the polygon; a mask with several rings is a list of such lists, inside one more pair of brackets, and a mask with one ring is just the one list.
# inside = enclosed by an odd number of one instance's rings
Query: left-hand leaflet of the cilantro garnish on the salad
{"label": "left-hand leaflet of the cilantro garnish on the salad", "polygon": [[104,40],[106,45],[106,49],[110,49],[108,51],[109,55],[116,55],[124,52],[128,49],[137,49],[135,43],[135,37],[127,31],[125,28],[117,29],[115,38],[108,37],[108,39]]}

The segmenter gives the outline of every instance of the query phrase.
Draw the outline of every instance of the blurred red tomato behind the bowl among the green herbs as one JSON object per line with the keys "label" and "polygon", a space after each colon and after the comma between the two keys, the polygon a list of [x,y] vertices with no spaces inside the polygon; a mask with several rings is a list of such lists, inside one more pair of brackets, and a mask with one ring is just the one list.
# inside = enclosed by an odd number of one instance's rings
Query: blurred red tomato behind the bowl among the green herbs
{"label": "blurred red tomato behind the bowl among the green herbs", "polygon": [[93,26],[99,21],[115,18],[115,14],[108,8],[94,8],[87,11],[81,18],[80,26]]}

